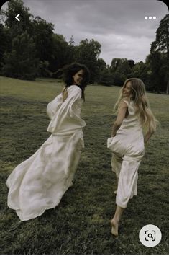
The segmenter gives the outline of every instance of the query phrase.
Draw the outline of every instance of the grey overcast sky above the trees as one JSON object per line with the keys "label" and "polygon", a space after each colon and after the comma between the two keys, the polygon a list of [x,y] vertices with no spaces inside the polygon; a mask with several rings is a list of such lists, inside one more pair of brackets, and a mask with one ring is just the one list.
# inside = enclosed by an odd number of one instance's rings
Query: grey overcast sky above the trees
{"label": "grey overcast sky above the trees", "polygon": [[112,58],[145,61],[160,20],[168,14],[157,0],[24,0],[24,6],[34,17],[52,22],[67,41],[71,35],[76,45],[86,38],[99,41],[99,58],[107,64]]}

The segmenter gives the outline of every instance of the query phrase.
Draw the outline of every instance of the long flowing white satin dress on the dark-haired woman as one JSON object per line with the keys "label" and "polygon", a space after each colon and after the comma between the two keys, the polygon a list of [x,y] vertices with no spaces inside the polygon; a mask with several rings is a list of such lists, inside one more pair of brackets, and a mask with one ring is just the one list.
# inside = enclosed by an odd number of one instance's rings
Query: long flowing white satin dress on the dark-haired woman
{"label": "long flowing white satin dress on the dark-haired woman", "polygon": [[82,128],[86,125],[80,117],[82,103],[81,89],[76,85],[68,87],[65,102],[62,93],[55,97],[47,105],[51,119],[47,131],[52,134],[9,175],[8,206],[21,221],[34,219],[58,206],[72,185],[83,148]]}

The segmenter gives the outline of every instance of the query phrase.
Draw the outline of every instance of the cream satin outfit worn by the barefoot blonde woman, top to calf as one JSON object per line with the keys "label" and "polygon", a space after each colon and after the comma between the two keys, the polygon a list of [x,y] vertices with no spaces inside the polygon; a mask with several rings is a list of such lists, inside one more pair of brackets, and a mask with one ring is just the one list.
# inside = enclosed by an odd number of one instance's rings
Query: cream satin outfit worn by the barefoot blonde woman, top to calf
{"label": "cream satin outfit worn by the barefoot blonde woman, top to calf", "polygon": [[137,170],[145,154],[142,125],[134,102],[124,102],[129,115],[124,118],[116,136],[107,140],[107,147],[112,152],[111,167],[118,180],[116,203],[122,208],[126,208],[129,199],[137,195]]}

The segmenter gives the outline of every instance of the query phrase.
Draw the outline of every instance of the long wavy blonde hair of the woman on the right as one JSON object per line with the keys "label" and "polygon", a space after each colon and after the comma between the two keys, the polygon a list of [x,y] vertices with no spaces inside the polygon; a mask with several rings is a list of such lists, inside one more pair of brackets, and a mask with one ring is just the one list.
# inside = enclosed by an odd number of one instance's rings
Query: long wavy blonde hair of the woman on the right
{"label": "long wavy blonde hair of the woman on the right", "polygon": [[131,83],[131,100],[134,101],[136,106],[136,112],[139,114],[140,122],[145,126],[150,132],[154,132],[157,126],[157,119],[152,114],[150,105],[145,92],[145,84],[141,79],[130,78],[124,81],[124,85],[119,92],[119,98],[114,105],[114,110],[117,110],[119,107],[119,102],[122,100],[123,89],[126,86],[127,82]]}

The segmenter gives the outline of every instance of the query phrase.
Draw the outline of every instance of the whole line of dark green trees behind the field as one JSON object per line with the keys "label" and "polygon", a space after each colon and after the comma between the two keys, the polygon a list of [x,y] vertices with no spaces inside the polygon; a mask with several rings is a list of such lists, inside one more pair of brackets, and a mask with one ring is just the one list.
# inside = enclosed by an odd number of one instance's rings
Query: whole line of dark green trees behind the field
{"label": "whole line of dark green trees behind the field", "polygon": [[[20,22],[14,19],[20,14]],[[91,83],[122,86],[129,77],[139,77],[148,91],[169,94],[169,14],[160,21],[156,39],[145,62],[112,58],[111,65],[99,58],[101,44],[81,40],[75,45],[73,36],[67,42],[54,32],[54,25],[41,17],[33,17],[22,0],[8,2],[1,11],[0,74],[33,80],[38,76],[58,78],[58,69],[79,62],[91,71]]]}

